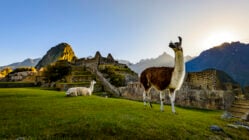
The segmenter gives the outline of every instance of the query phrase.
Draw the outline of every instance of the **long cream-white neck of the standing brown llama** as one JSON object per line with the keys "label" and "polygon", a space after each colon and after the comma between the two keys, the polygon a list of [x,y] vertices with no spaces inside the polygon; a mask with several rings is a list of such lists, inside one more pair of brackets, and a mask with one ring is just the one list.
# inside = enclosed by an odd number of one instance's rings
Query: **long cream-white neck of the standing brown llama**
{"label": "long cream-white neck of the standing brown llama", "polygon": [[185,63],[182,51],[175,53],[175,66],[169,87],[180,89],[185,76]]}

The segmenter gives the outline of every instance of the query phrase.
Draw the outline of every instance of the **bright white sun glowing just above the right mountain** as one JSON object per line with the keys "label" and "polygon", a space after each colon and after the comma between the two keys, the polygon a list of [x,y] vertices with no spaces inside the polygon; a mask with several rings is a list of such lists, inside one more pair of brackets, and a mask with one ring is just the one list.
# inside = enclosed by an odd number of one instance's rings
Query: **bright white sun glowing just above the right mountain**
{"label": "bright white sun glowing just above the right mountain", "polygon": [[237,36],[231,31],[215,31],[208,35],[203,41],[203,49],[209,49],[218,46],[224,42],[236,41]]}

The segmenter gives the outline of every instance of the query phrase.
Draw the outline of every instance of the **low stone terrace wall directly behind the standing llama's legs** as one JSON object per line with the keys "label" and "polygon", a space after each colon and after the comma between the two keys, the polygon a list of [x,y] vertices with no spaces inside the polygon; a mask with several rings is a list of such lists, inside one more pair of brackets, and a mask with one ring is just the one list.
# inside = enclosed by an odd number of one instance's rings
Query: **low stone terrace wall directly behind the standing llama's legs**
{"label": "low stone terrace wall directly behind the standing llama's legs", "polygon": [[[130,83],[127,87],[119,88],[119,91],[123,98],[143,101],[144,89],[140,83]],[[165,103],[170,104],[168,93],[165,94]],[[151,95],[152,102],[160,102],[158,91],[152,89]],[[233,101],[232,91],[182,88],[176,92],[175,104],[200,109],[228,109]]]}

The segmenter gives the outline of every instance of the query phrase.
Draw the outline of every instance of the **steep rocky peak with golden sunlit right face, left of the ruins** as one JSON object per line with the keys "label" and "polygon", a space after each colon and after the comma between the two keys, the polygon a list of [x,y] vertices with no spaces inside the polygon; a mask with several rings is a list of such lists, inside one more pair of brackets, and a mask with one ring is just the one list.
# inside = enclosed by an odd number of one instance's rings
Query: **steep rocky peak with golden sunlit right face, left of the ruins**
{"label": "steep rocky peak with golden sunlit right face, left of the ruins", "polygon": [[46,55],[35,66],[36,69],[40,69],[58,60],[66,60],[68,62],[75,61],[76,56],[73,49],[67,43],[60,43],[55,47],[52,47]]}

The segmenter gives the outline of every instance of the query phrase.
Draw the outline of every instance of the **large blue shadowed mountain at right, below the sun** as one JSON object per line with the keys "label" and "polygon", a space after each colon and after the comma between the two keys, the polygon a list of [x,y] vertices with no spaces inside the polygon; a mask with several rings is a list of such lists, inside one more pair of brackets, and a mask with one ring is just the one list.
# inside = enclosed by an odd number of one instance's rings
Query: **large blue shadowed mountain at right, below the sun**
{"label": "large blue shadowed mountain at right, below the sun", "polygon": [[223,43],[186,63],[187,72],[214,68],[225,71],[242,86],[249,85],[249,44]]}

